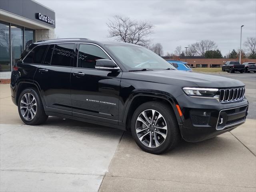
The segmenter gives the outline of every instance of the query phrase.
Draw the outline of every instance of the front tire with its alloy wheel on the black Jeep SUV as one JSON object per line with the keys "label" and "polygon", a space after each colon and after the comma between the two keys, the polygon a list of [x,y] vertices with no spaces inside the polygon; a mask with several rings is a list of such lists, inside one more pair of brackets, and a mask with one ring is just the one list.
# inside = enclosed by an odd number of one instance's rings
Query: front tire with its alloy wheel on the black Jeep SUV
{"label": "front tire with its alloy wheel on the black Jeep SUV", "polygon": [[[144,113],[145,111],[146,113]],[[153,113],[155,118],[152,122]],[[159,117],[159,114],[162,117]],[[145,116],[148,118],[147,126],[142,122],[146,122]],[[149,124],[150,126],[148,126]],[[136,144],[145,152],[152,154],[167,152],[173,149],[180,140],[176,116],[171,107],[162,102],[146,102],[140,105],[132,116],[131,132]]]}

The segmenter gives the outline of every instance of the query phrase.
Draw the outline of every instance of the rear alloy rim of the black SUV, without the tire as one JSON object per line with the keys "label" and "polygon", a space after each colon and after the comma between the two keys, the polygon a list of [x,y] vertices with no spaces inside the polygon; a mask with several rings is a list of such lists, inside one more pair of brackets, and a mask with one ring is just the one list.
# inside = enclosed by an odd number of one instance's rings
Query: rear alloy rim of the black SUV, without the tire
{"label": "rear alloy rim of the black SUV, without the tire", "polygon": [[37,104],[34,95],[25,93],[20,100],[20,112],[27,121],[34,119],[36,115]]}

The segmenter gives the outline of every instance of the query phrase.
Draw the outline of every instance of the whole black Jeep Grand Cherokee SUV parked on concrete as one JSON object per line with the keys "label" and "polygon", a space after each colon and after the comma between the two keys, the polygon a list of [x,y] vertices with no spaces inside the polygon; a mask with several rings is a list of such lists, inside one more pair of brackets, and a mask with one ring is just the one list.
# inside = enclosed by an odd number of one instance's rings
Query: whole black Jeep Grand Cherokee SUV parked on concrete
{"label": "whole black Jeep Grand Cherokee SUV parked on concrete", "polygon": [[130,130],[160,154],[228,132],[246,120],[245,85],[176,70],[134,44],[87,39],[31,44],[14,66],[12,100],[25,124],[59,116]]}

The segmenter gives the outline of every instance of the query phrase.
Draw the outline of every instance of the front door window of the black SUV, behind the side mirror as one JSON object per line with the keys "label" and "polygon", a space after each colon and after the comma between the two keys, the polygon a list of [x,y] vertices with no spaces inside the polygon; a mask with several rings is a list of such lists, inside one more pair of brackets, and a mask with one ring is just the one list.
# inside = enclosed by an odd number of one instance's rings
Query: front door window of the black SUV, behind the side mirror
{"label": "front door window of the black SUV, behind the side mirror", "polygon": [[98,46],[80,44],[78,52],[78,67],[95,68],[96,60],[110,59]]}

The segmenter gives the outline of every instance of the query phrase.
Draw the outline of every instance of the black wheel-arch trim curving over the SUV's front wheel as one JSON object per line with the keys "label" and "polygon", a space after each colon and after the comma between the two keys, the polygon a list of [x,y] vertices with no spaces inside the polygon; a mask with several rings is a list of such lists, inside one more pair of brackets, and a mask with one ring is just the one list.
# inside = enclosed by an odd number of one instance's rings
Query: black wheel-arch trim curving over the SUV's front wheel
{"label": "black wheel-arch trim curving over the SUV's front wheel", "polygon": [[166,100],[173,108],[174,114],[176,115],[176,119],[178,121],[178,124],[182,124],[182,118],[179,115],[179,112],[176,108],[176,104],[178,104],[177,100],[172,96],[172,94],[167,93],[167,92],[162,92],[162,91],[157,91],[157,90],[135,90],[136,92],[132,92],[128,99],[126,100],[126,103],[124,104],[124,112],[123,117],[121,121],[119,121],[119,124],[122,126],[126,125],[126,119],[128,115],[128,111],[130,109],[130,106],[133,102],[133,100],[138,97],[138,96],[149,96],[152,98],[160,98]]}

